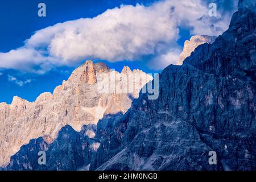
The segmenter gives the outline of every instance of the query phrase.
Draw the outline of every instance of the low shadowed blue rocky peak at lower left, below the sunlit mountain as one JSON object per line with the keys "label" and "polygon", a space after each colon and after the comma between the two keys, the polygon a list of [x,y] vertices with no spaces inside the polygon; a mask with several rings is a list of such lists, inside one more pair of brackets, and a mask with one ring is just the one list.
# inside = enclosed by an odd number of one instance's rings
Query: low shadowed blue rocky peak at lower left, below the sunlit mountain
{"label": "low shadowed blue rocky peak at lower left, below the sunlit mountain", "polygon": [[[90,139],[86,131],[95,132],[95,125],[82,127],[79,132],[67,125],[63,127],[57,138],[51,143],[46,137],[30,140],[11,156],[7,170],[77,170],[90,163],[93,146],[97,140]],[[46,164],[39,165],[38,152],[46,152]]]}

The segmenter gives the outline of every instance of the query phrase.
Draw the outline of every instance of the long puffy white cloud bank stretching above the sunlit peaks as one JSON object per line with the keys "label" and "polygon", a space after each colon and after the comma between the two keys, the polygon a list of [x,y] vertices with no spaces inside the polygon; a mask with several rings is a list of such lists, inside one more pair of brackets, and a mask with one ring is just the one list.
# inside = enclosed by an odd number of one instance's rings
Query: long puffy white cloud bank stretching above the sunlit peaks
{"label": "long puffy white cloud bank stretching above the sunlit peaks", "polygon": [[163,68],[175,64],[179,55],[174,45],[180,26],[191,28],[192,34],[207,35],[219,35],[228,28],[229,14],[210,17],[208,11],[203,0],[122,5],[94,18],[36,31],[23,47],[0,52],[0,68],[44,73],[54,66],[74,65],[85,59],[133,61],[144,55],[152,55],[151,63]]}

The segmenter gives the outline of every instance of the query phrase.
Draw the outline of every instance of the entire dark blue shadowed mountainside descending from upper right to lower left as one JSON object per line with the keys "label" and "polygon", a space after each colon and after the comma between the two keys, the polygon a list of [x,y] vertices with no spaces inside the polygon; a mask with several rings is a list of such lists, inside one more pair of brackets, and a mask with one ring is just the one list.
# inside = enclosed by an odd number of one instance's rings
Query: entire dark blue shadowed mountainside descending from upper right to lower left
{"label": "entire dark blue shadowed mountainside descending from upper right to lower left", "polygon": [[[124,115],[105,115],[97,130],[86,126],[77,133],[67,126],[51,144],[31,140],[11,158],[9,169],[42,169],[36,167],[36,152],[28,156],[27,151],[46,146],[44,169],[255,170],[256,14],[251,2],[240,1],[229,30],[213,44],[197,47],[183,65],[164,69],[157,100],[140,94]],[[89,130],[95,137],[86,135]],[[217,165],[208,162],[212,150]]]}

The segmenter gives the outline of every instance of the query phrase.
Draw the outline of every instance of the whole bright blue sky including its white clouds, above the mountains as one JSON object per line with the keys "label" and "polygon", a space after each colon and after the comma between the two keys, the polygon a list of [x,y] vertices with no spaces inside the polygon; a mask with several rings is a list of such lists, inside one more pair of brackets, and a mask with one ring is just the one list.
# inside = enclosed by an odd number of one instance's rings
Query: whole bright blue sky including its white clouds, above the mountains
{"label": "whole bright blue sky including its white clouds, above the mountains", "polygon": [[[46,17],[38,16],[40,2],[46,4]],[[117,71],[128,65],[148,73],[160,72],[166,65],[175,64],[175,60],[167,55],[174,57],[178,55],[184,41],[192,35],[221,34],[228,27],[230,17],[236,10],[237,1],[195,0],[194,9],[188,8],[185,1],[179,4],[172,2],[172,0],[170,2],[2,0],[0,2],[0,102],[10,103],[13,96],[34,101],[40,93],[52,92],[86,59],[104,61]],[[217,4],[218,17],[206,16],[210,2]],[[115,7],[119,8],[114,9]],[[170,11],[173,7],[175,12]],[[181,11],[183,9],[184,12]],[[94,18],[98,15],[100,16]],[[201,16],[204,17],[203,22],[198,20]],[[73,21],[67,22],[70,20]],[[55,26],[56,23],[62,24]],[[81,34],[82,38],[76,34],[69,34],[70,24],[76,28],[71,31],[78,31],[77,34]],[[212,24],[215,29],[209,28]],[[47,28],[49,26],[55,26],[57,31]],[[99,27],[102,27],[102,30],[99,30]],[[43,28],[49,30],[51,34],[48,33],[49,31],[39,31]],[[105,32],[106,35],[102,35]],[[45,36],[47,41],[51,37],[46,45],[41,46],[45,43],[44,37],[43,40],[31,38],[32,35],[37,38],[39,34]],[[52,35],[59,36],[53,39]],[[70,36],[70,44],[80,50],[84,48],[84,54],[80,53],[83,51],[73,50],[69,43],[65,44],[67,37]],[[76,45],[76,40],[80,39],[85,43],[82,47],[80,44]],[[113,44],[109,44],[110,40]],[[86,41],[92,47],[90,51]],[[105,47],[101,49],[102,45]],[[109,50],[105,50],[106,48]],[[67,53],[60,52],[62,49],[67,50]],[[72,59],[73,55],[74,59]],[[160,61],[162,57],[166,60]]]}

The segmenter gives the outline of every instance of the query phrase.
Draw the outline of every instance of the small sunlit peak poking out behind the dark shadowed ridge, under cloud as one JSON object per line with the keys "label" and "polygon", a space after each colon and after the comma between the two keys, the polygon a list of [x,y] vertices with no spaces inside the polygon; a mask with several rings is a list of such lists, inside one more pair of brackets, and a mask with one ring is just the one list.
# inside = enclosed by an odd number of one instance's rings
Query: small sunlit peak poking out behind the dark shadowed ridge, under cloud
{"label": "small sunlit peak poking out behind the dark shadowed ridge, under cloud", "polygon": [[204,43],[212,44],[215,39],[215,36],[195,35],[192,36],[189,40],[186,40],[184,43],[183,51],[180,53],[180,59],[177,62],[177,65],[181,65],[183,61],[189,57],[198,46]]}

